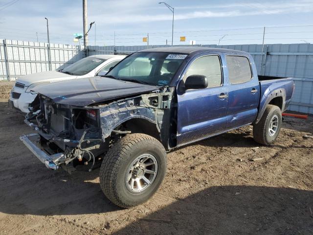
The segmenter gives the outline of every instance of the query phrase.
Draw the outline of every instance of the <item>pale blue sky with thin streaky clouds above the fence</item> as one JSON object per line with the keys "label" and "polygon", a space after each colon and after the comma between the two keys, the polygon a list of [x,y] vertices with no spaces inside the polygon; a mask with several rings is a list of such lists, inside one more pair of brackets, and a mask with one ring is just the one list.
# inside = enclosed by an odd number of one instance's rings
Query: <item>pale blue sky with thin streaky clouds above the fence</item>
{"label": "pale blue sky with thin streaky clouds above the fence", "polygon": [[[91,46],[168,45],[172,12],[159,0],[88,0]],[[166,0],[174,45],[313,43],[313,0]],[[0,0],[0,38],[74,44],[83,33],[82,0]],[[36,34],[37,32],[37,34]],[[180,42],[185,37],[185,42]],[[82,42],[81,42],[82,43]]]}

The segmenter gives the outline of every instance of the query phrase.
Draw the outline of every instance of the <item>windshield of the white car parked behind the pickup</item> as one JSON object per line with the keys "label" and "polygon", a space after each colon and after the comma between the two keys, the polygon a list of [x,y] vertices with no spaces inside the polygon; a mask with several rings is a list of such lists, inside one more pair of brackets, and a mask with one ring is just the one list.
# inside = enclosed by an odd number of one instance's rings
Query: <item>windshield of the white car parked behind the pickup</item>
{"label": "windshield of the white car parked behind the pickup", "polygon": [[85,75],[105,62],[106,59],[86,57],[64,68],[61,72],[70,75]]}

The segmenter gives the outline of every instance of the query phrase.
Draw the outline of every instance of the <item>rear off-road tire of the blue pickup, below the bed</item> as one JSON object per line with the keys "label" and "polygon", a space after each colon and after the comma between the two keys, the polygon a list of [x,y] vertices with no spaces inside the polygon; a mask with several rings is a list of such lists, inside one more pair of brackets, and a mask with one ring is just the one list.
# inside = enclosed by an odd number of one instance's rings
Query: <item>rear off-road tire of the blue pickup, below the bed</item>
{"label": "rear off-road tire of the blue pickup, below the bed", "polygon": [[[271,118],[275,115],[278,117],[278,128],[276,130],[276,133],[273,136],[270,136],[268,128]],[[271,144],[276,140],[280,132],[281,125],[282,125],[282,113],[280,108],[276,105],[268,104],[260,121],[257,124],[253,125],[254,140],[264,145]]]}

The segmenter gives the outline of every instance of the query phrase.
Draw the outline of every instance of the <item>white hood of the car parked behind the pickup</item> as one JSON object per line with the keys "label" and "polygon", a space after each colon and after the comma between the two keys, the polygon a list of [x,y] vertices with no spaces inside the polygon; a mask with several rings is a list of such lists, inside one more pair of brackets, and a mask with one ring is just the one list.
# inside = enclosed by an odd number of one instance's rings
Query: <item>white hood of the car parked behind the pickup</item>
{"label": "white hood of the car parked behind the pickup", "polygon": [[17,79],[17,82],[25,84],[25,86],[29,86],[30,84],[36,82],[54,82],[72,78],[76,78],[76,75],[70,75],[58,71],[45,71],[21,76]]}

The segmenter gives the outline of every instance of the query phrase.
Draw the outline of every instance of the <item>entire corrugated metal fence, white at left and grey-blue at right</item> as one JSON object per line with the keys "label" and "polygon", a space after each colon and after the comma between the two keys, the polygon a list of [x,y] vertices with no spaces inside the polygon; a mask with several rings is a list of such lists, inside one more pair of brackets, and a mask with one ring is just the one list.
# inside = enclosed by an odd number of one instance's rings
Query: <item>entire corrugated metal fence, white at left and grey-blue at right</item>
{"label": "entire corrugated metal fence, white at left and grey-blue at right", "polygon": [[[296,89],[290,109],[313,114],[313,45],[196,45],[220,47],[249,52],[256,63],[259,75],[294,77]],[[164,45],[149,48],[164,47]],[[130,54],[147,46],[89,46],[88,55]],[[60,69],[85,57],[80,46],[51,44],[51,68]],[[0,40],[0,80],[15,80],[25,74],[48,71],[48,46],[46,43]]]}

